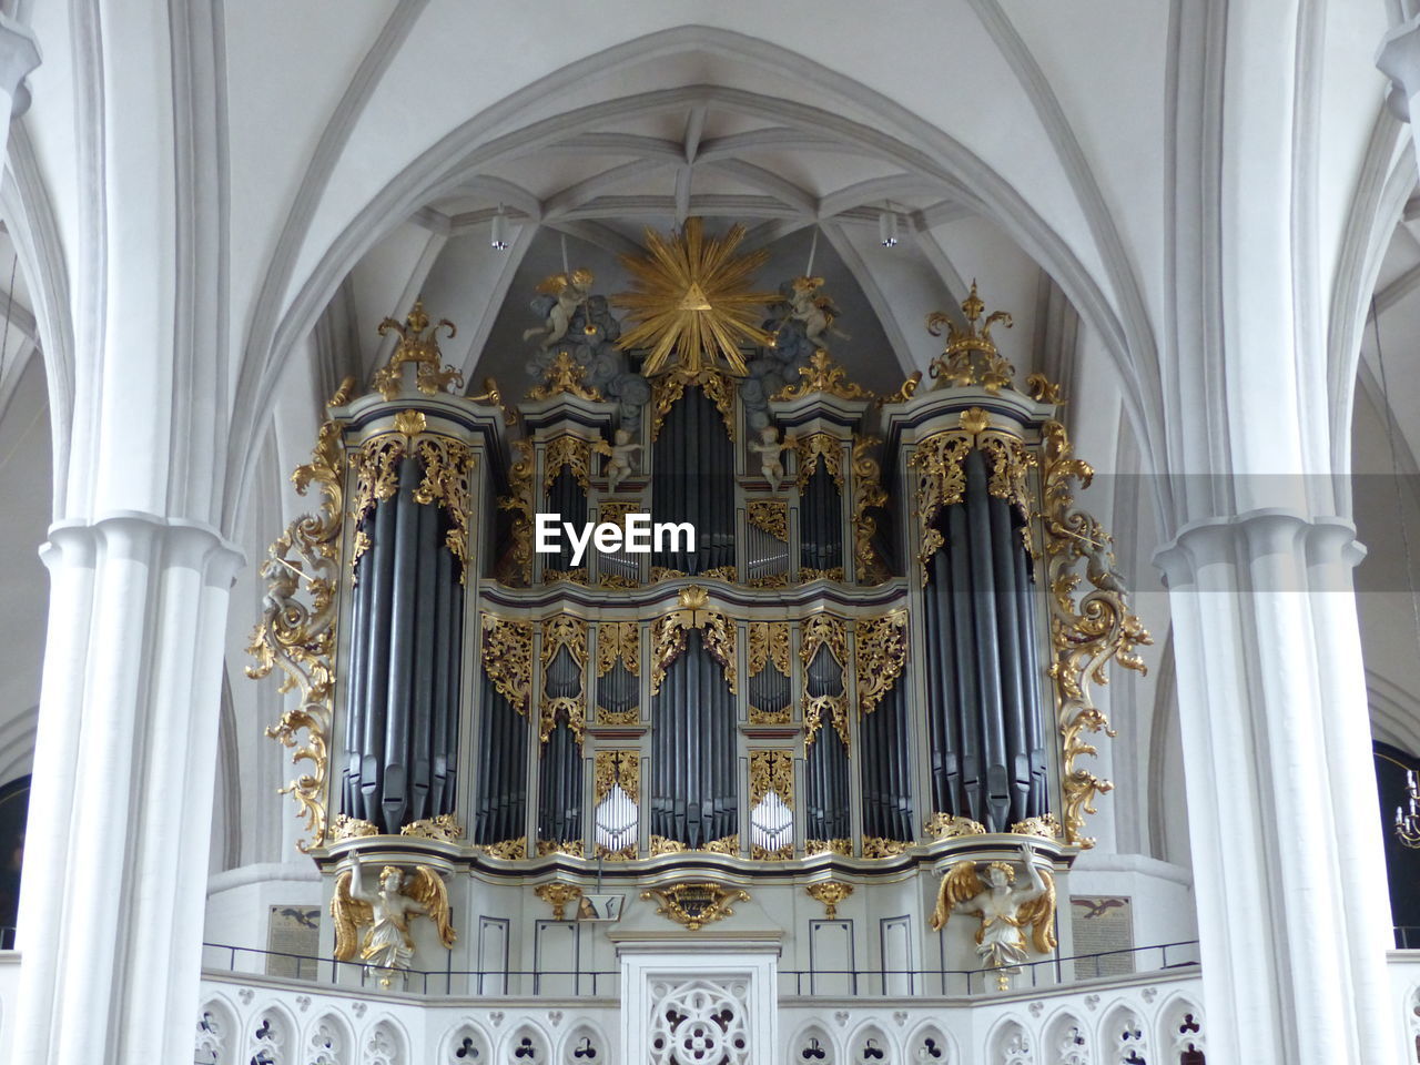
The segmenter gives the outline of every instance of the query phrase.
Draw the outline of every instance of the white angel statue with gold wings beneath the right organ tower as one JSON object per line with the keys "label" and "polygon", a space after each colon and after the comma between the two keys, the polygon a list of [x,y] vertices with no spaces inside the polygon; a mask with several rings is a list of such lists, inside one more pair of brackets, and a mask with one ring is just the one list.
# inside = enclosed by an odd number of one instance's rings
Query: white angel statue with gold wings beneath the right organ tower
{"label": "white angel statue with gold wings beneath the right organ tower", "polygon": [[977,954],[985,968],[1010,970],[1025,960],[1027,926],[1037,951],[1048,954],[1055,949],[1055,880],[1035,868],[1035,848],[1027,841],[1021,842],[1021,863],[1031,880],[1022,888],[1014,886],[1015,868],[1010,862],[991,862],[985,885],[971,861],[957,862],[941,878],[932,927],[946,927],[953,913],[978,914]]}

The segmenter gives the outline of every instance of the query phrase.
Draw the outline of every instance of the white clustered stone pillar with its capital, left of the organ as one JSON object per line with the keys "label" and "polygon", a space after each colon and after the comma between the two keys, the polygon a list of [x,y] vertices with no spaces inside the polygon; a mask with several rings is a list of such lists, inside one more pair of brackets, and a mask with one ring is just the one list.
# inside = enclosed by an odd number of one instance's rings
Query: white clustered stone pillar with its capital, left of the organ
{"label": "white clustered stone pillar with its capital, left of the organ", "polygon": [[152,514],[61,523],[20,897],[14,1061],[192,1061],[227,595]]}

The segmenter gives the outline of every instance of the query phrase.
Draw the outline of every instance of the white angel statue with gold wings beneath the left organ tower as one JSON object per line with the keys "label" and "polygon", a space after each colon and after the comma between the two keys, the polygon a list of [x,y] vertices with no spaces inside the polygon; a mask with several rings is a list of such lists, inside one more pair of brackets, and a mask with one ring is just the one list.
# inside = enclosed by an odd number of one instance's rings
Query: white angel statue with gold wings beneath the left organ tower
{"label": "white angel statue with gold wings beneath the left organ tower", "polygon": [[415,866],[406,883],[405,870],[386,865],[379,872],[379,890],[365,888],[364,866],[358,859],[335,879],[331,917],[335,922],[335,958],[355,957],[356,933],[369,926],[359,940],[359,957],[371,968],[381,970],[381,984],[389,987],[395,971],[409,968],[415,957],[415,940],[409,934],[409,920],[427,916],[439,929],[446,947],[454,943],[449,922],[449,889],[443,878],[427,865]]}

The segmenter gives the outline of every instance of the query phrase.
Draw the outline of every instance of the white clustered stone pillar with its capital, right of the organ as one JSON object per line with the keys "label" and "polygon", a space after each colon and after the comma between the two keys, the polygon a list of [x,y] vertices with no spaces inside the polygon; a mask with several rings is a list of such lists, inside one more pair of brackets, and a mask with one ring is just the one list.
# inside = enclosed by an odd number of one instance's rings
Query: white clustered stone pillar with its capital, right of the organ
{"label": "white clustered stone pillar with its capital, right of the organ", "polygon": [[1220,1061],[1397,1059],[1362,554],[1343,520],[1257,510],[1193,521],[1157,555]]}

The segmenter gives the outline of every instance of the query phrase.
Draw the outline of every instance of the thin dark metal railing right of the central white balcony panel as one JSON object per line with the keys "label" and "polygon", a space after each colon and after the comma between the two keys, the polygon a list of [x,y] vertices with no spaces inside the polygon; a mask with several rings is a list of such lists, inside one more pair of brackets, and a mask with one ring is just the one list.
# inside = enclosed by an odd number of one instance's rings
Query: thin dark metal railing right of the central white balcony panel
{"label": "thin dark metal railing right of the central white balcony panel", "polygon": [[[1139,964],[1153,961],[1154,964]],[[1015,990],[1068,987],[1083,980],[1098,980],[1133,973],[1157,973],[1198,964],[1198,940],[1160,943],[1152,947],[1102,950],[1093,954],[1049,957],[1022,961],[1011,970]],[[1072,966],[1072,970],[1066,970]],[[780,994],[832,998],[941,995],[958,998],[1000,988],[1003,970],[997,968],[815,968],[780,970]],[[1022,981],[1022,977],[1027,980]],[[792,990],[791,990],[792,988]],[[808,988],[805,991],[805,988]]]}

